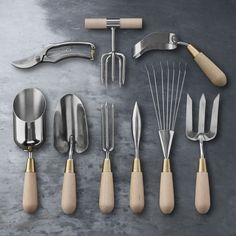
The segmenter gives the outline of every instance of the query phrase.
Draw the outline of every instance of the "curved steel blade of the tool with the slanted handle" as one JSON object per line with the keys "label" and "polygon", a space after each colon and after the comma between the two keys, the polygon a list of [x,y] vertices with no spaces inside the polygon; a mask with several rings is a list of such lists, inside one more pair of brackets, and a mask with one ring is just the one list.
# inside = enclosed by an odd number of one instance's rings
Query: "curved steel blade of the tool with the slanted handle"
{"label": "curved steel blade of the tool with the slanted handle", "polygon": [[134,45],[133,57],[139,58],[150,50],[173,50],[177,48],[178,38],[175,33],[155,32],[147,35]]}

